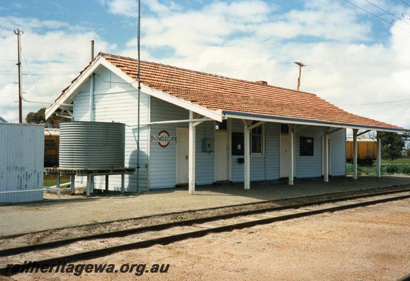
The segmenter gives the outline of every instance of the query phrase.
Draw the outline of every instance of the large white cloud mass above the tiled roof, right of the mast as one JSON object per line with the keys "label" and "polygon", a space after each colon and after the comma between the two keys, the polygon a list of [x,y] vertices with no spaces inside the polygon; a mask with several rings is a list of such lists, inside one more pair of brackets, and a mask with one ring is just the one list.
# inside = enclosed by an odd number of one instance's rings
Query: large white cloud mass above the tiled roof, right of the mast
{"label": "large white cloud mass above the tiled roof, right of the mast", "polygon": [[[358,4],[371,10],[363,1]],[[353,113],[410,128],[403,117],[410,116],[410,102],[357,106],[407,98],[405,77],[410,75],[398,67],[403,63],[348,64],[410,62],[410,34],[392,27],[383,44],[368,43],[374,27],[362,14],[329,0],[306,1],[278,15],[260,1],[214,2],[198,11],[142,18],[141,58],[158,61],[152,50],[168,47],[174,55],[159,62],[293,89],[298,69],[281,63],[303,61],[308,66],[302,71],[302,90]],[[315,40],[305,43],[298,36]],[[135,56],[135,45],[131,40],[122,53]]]}

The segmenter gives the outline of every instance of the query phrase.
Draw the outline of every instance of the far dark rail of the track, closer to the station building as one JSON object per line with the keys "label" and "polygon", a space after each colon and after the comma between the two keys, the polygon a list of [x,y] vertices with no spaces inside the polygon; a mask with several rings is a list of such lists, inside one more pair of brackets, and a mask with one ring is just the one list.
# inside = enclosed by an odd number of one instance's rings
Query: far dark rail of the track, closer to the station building
{"label": "far dark rail of the track, closer to the station building", "polygon": [[150,226],[144,226],[144,227],[130,228],[130,229],[125,229],[125,230],[92,234],[92,235],[87,235],[87,236],[79,236],[79,237],[56,240],[56,241],[46,242],[46,243],[41,243],[41,244],[27,245],[27,246],[22,246],[22,247],[15,247],[15,248],[0,250],[0,256],[10,256],[10,255],[26,253],[30,251],[51,249],[51,248],[68,245],[68,244],[78,242],[81,240],[124,237],[124,236],[147,232],[147,231],[158,231],[158,230],[169,229],[169,228],[177,227],[177,226],[192,226],[194,224],[203,224],[203,223],[208,223],[208,222],[212,222],[215,220],[228,219],[228,218],[233,218],[237,216],[260,214],[260,213],[266,213],[266,212],[272,212],[272,211],[281,211],[285,209],[299,209],[302,207],[308,207],[308,206],[313,206],[313,205],[321,205],[321,204],[326,204],[326,203],[341,202],[341,201],[353,200],[353,199],[364,198],[364,197],[374,197],[374,196],[381,196],[381,195],[388,195],[388,194],[402,193],[402,192],[410,192],[410,189],[382,191],[382,192],[377,192],[377,193],[372,193],[372,194],[353,195],[353,196],[331,198],[331,199],[318,200],[318,201],[312,201],[312,202],[306,202],[306,203],[298,203],[298,204],[292,204],[292,205],[284,205],[284,206],[277,206],[277,207],[270,207],[270,208],[263,208],[263,209],[256,209],[256,210],[239,211],[239,212],[221,214],[221,215],[215,215],[215,216],[179,220],[176,222],[165,223],[165,224],[157,224],[157,225],[150,225]]}

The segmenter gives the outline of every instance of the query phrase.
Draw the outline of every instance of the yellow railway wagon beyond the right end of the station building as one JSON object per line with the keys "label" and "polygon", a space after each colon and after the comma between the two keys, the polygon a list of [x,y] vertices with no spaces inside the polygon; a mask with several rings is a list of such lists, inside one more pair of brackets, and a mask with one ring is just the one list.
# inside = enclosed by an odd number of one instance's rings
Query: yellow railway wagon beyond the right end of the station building
{"label": "yellow railway wagon beyond the right end of the station building", "polygon": [[[359,165],[371,165],[377,157],[377,140],[371,137],[357,138],[357,161]],[[353,159],[353,137],[346,138],[346,160]]]}

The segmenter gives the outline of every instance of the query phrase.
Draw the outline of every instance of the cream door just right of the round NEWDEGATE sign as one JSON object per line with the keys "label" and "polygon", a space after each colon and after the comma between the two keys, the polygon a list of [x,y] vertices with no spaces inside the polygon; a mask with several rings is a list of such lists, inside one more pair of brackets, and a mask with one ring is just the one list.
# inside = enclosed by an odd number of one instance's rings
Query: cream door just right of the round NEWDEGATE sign
{"label": "cream door just right of the round NEWDEGATE sign", "polygon": [[188,129],[178,128],[177,132],[177,185],[188,184],[188,155],[189,155]]}

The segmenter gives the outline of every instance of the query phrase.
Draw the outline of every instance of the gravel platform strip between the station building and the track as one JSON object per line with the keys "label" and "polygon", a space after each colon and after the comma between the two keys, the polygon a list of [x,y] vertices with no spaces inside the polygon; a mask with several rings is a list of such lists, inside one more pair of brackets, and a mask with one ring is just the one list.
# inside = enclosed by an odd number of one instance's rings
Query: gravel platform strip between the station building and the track
{"label": "gravel platform strip between the station building and the track", "polygon": [[[408,184],[408,176],[361,176],[358,180],[333,177],[329,183],[324,183],[321,178],[296,179],[292,187],[286,180],[253,183],[250,190],[243,189],[241,184],[197,187],[195,195],[189,195],[187,189],[171,189],[150,191],[139,196],[95,196],[87,199],[74,196],[76,200],[0,206],[0,236],[130,217]],[[70,195],[62,197],[73,198]]]}

